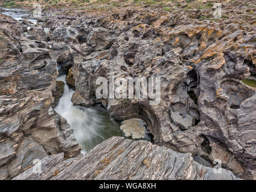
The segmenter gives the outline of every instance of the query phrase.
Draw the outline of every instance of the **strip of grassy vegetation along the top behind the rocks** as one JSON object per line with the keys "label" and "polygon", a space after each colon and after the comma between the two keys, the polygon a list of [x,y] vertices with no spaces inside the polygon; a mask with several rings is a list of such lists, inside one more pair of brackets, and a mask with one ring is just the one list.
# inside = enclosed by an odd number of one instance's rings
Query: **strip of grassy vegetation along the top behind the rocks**
{"label": "strip of grassy vegetation along the top behind the rocks", "polygon": [[[229,0],[224,0],[222,3]],[[175,9],[189,10],[193,8],[206,9],[211,8],[214,5],[215,0],[2,0],[0,2],[1,7],[7,8],[22,8],[32,7],[35,3],[42,5],[43,7],[69,7],[78,8],[78,10],[98,9],[106,10],[117,7],[126,6],[141,6],[141,5],[162,5],[163,10],[172,11]],[[255,5],[249,5],[248,7],[255,8]],[[254,11],[251,11],[254,14]],[[224,16],[225,17],[225,16]],[[201,18],[201,20],[209,18]]]}

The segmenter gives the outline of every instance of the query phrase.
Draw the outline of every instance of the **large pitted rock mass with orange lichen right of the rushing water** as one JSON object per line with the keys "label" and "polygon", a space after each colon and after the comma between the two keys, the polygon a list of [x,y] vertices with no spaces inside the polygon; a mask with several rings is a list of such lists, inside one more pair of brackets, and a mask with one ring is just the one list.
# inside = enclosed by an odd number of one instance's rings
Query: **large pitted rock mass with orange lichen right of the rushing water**
{"label": "large pitted rock mass with orange lichen right of the rushing water", "polygon": [[[81,12],[80,17],[62,17],[62,26],[55,22],[50,37],[53,44],[65,42],[75,51],[69,71],[74,104],[102,103],[118,121],[140,118],[153,143],[191,152],[210,164],[221,159],[226,169],[252,179],[256,94],[241,80],[254,73],[255,18],[243,11],[234,19],[240,9],[236,2],[225,3],[222,14],[228,18],[217,21],[199,19],[212,14],[212,8],[126,9],[103,17]],[[96,79],[109,79],[109,72],[115,78],[161,77],[160,104],[97,99]],[[219,148],[222,152],[213,151]]]}

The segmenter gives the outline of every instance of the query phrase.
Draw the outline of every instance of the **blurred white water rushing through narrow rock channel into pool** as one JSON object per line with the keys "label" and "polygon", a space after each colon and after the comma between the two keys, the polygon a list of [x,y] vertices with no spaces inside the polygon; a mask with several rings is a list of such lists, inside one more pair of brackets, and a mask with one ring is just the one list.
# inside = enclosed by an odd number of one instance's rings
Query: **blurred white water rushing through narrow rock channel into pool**
{"label": "blurred white water rushing through narrow rock channel into pool", "polygon": [[65,86],[55,111],[73,128],[76,139],[84,148],[82,152],[89,151],[109,137],[122,136],[119,125],[105,109],[100,106],[73,106],[71,98],[75,91],[66,84],[66,76],[59,76],[57,80],[64,82]]}

